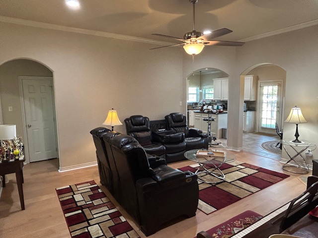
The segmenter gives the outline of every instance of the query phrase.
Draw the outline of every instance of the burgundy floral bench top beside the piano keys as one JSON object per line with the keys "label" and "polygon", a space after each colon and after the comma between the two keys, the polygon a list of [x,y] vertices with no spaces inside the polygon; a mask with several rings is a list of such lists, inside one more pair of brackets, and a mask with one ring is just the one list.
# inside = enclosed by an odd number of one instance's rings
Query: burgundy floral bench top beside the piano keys
{"label": "burgundy floral bench top beside the piano keys", "polygon": [[245,211],[238,216],[206,231],[213,238],[229,238],[239,231],[249,227],[262,218],[256,212]]}

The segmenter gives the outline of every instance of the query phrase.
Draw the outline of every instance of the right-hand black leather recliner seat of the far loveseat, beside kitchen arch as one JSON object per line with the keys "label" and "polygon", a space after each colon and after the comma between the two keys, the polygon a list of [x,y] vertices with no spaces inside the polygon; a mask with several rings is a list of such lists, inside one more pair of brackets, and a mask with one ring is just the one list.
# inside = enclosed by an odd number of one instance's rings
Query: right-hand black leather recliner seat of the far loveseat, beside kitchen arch
{"label": "right-hand black leather recliner seat of the far loveseat, beside kitchen arch", "polygon": [[183,132],[185,134],[186,150],[193,149],[208,149],[209,141],[208,134],[203,133],[201,130],[190,128],[187,126],[186,117],[181,113],[170,113],[164,117],[166,127],[168,130],[174,132]]}

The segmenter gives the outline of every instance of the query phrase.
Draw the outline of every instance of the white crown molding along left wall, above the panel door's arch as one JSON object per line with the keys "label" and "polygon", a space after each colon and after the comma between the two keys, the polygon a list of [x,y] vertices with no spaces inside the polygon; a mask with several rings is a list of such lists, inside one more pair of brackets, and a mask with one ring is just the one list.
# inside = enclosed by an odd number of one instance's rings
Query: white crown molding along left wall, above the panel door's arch
{"label": "white crown molding along left wall, above the panel door's arch", "polygon": [[171,45],[171,43],[167,43],[164,41],[157,41],[157,40],[152,40],[152,39],[147,39],[142,37],[127,36],[127,35],[115,34],[115,33],[104,32],[104,31],[87,30],[82,28],[62,26],[62,25],[56,25],[56,24],[50,24],[50,23],[44,23],[44,22],[38,22],[38,21],[31,21],[31,20],[25,20],[25,19],[8,17],[8,16],[0,16],[0,21],[6,22],[6,23],[13,23],[17,25],[45,28],[45,29],[51,29],[51,30],[57,30],[57,31],[74,32],[79,34],[101,36],[101,37],[126,40],[126,41],[135,41],[135,42],[149,43],[149,44],[155,44],[155,45]]}

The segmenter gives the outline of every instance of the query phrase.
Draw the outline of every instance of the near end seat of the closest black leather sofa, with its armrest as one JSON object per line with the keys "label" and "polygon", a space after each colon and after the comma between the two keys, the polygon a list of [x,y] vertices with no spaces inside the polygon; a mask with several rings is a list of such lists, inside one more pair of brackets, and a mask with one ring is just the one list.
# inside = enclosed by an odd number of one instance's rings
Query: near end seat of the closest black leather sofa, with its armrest
{"label": "near end seat of the closest black leather sofa, with its armrest", "polygon": [[119,175],[120,204],[146,236],[179,216],[195,216],[199,199],[195,174],[162,164],[151,168],[144,148],[132,136],[119,134],[108,143]]}

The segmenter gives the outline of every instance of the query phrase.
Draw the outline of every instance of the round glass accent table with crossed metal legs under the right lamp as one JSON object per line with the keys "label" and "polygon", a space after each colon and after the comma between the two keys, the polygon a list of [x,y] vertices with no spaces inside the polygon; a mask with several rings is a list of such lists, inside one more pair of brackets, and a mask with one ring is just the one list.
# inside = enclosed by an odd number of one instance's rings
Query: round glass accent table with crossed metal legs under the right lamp
{"label": "round glass accent table with crossed metal legs under the right lamp", "polygon": [[[309,167],[302,156],[302,153],[305,152],[309,147],[315,146],[316,144],[309,142],[307,140],[302,140],[301,143],[295,143],[291,140],[282,140],[281,142],[283,144],[284,150],[286,151],[287,155],[289,156],[289,160],[283,165],[283,170],[289,173],[293,174],[307,174],[309,172]],[[291,152],[287,151],[287,148],[292,148],[296,153],[293,155]],[[297,162],[295,158],[297,156],[300,156],[304,163]],[[292,162],[292,164],[290,164]]]}

